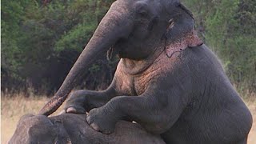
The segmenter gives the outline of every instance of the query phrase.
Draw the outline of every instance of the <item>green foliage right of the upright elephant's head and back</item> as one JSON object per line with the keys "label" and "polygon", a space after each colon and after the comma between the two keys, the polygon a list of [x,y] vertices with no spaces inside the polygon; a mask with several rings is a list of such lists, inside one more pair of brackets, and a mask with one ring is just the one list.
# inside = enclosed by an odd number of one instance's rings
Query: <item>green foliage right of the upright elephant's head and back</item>
{"label": "green foliage right of the upright elephant's head and back", "polygon": [[183,0],[239,91],[256,91],[256,1]]}

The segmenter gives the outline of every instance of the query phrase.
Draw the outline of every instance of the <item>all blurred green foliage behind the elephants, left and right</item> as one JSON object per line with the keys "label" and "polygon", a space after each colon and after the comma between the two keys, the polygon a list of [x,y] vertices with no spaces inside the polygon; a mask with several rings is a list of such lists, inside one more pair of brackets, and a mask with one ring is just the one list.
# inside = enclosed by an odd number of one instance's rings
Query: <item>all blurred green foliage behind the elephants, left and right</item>
{"label": "all blurred green foliage behind the elephants, left and right", "polygon": [[[48,3],[47,3],[48,2]],[[2,90],[58,89],[114,0],[2,0]],[[238,90],[256,91],[256,1],[183,0]],[[116,61],[96,62],[83,86],[107,86]],[[106,73],[102,74],[102,71]],[[97,87],[99,84],[104,86]]]}

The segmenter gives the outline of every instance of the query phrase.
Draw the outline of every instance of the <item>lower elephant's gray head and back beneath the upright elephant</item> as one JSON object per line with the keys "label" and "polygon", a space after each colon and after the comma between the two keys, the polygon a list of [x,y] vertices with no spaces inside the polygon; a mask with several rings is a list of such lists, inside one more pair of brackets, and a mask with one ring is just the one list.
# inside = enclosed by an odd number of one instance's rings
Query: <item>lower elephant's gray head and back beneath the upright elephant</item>
{"label": "lower elephant's gray head and back beneath the upright elephant", "polygon": [[[159,135],[146,133],[136,123],[120,121],[113,134],[90,128],[86,114],[62,114],[47,118],[27,114],[18,122],[9,144],[165,144]],[[132,133],[130,132],[132,131]]]}

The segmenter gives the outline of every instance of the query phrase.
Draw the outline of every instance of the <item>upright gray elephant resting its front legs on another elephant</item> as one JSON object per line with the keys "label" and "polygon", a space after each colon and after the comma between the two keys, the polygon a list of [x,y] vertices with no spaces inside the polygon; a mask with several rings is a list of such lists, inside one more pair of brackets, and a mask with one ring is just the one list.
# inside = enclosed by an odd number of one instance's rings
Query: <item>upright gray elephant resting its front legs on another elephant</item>
{"label": "upright gray elephant resting its front legs on another elephant", "polygon": [[178,0],[114,2],[39,114],[58,109],[106,51],[121,58],[113,82],[102,91],[75,91],[66,113],[89,112],[87,122],[104,134],[113,133],[118,121],[132,120],[166,143],[246,143],[250,111]]}

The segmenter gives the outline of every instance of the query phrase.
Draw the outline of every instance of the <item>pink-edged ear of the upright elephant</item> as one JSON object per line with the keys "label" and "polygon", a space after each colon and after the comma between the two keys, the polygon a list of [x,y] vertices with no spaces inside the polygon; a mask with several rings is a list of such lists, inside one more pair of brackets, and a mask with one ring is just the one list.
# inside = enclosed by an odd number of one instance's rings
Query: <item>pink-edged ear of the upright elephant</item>
{"label": "pink-edged ear of the upright elephant", "polygon": [[203,44],[202,40],[198,38],[190,10],[178,3],[176,10],[173,10],[172,13],[176,14],[172,14],[166,29],[165,51],[169,58],[176,52]]}

